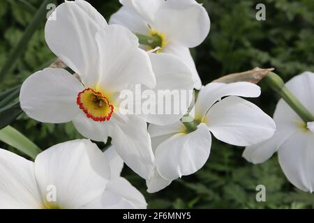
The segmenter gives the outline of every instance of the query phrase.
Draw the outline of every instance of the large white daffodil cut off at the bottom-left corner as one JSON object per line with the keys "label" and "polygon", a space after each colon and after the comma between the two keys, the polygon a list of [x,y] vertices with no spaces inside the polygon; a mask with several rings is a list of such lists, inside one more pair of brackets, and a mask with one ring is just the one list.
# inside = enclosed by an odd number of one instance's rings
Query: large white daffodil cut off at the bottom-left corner
{"label": "large white daffodil cut off at the bottom-left corner", "polygon": [[87,139],[52,146],[35,162],[0,149],[0,208],[146,208],[122,167],[114,149],[102,153]]}

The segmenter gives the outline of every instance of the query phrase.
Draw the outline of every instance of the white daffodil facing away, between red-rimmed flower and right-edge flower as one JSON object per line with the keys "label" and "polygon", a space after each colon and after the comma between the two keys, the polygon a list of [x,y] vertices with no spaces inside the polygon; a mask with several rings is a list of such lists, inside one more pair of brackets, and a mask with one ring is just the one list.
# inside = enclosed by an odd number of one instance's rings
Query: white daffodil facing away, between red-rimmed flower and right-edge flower
{"label": "white daffodil facing away, between red-rimmed flower and right-edge flower", "polygon": [[190,132],[179,121],[165,126],[149,125],[156,168],[154,176],[147,180],[148,192],[157,192],[172,180],[199,170],[209,158],[211,133],[236,146],[269,139],[276,128],[271,117],[253,103],[237,97],[259,95],[260,87],[248,82],[210,83],[201,89],[193,108],[195,131]]}

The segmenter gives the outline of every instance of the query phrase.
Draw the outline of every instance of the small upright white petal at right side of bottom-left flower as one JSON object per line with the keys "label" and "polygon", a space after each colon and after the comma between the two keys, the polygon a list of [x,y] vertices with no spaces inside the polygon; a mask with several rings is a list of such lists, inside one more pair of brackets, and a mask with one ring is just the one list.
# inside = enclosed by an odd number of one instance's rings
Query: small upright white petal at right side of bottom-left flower
{"label": "small upright white petal at right side of bottom-left flower", "polygon": [[110,167],[110,176],[112,178],[119,177],[122,169],[124,168],[124,161],[119,157],[114,146],[110,146],[104,152],[105,158]]}

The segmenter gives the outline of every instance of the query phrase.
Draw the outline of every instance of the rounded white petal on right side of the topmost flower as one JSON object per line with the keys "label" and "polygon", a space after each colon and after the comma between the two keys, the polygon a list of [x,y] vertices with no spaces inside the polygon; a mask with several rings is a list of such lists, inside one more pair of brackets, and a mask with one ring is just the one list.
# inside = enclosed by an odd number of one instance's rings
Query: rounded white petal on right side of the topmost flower
{"label": "rounded white petal on right side of the topmost flower", "polygon": [[168,0],[158,8],[152,26],[170,41],[191,48],[207,37],[210,20],[205,8],[195,0]]}

